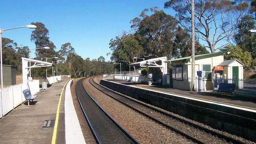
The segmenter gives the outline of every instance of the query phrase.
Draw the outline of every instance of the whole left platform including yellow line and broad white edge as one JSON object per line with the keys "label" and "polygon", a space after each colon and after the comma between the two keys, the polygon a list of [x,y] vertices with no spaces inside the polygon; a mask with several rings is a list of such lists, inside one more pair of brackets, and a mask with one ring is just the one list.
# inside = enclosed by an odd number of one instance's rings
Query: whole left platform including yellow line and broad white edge
{"label": "whole left platform including yellow line and broad white edge", "polygon": [[70,93],[62,80],[40,90],[34,102],[22,103],[0,120],[1,144],[85,143]]}

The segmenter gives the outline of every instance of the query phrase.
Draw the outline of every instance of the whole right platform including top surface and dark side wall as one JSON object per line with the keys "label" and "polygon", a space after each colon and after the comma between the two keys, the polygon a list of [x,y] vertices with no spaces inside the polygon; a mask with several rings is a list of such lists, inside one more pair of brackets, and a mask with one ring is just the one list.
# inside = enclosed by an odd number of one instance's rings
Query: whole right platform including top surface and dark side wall
{"label": "whole right platform including top surface and dark side wall", "polygon": [[256,100],[117,79],[101,79],[100,84],[214,129],[256,141]]}

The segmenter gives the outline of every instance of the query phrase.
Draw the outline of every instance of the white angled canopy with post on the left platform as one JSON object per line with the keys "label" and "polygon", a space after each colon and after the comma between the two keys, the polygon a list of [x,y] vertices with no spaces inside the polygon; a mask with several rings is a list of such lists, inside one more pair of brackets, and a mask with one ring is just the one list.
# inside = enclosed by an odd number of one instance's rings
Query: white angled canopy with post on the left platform
{"label": "white angled canopy with post on the left platform", "polygon": [[[23,83],[26,83],[30,76],[30,59],[22,57],[22,79]],[[31,59],[31,68],[39,68],[39,67],[47,67],[52,66],[52,63],[48,63],[45,61],[38,61],[35,59]]]}

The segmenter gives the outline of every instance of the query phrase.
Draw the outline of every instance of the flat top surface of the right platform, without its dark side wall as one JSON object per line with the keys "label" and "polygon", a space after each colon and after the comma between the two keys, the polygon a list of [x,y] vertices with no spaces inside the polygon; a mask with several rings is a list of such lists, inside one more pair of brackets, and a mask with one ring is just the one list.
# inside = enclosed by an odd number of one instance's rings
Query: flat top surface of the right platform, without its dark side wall
{"label": "flat top surface of the right platform, without its dark side wall", "polygon": [[117,79],[107,79],[124,85],[131,85],[135,87],[141,87],[144,89],[156,90],[158,92],[165,92],[170,94],[176,94],[180,96],[186,96],[189,98],[195,98],[198,100],[204,100],[215,103],[222,103],[226,105],[256,110],[256,99],[242,98],[237,96],[227,96],[223,94],[215,94],[213,92],[192,92],[180,89],[171,89],[158,85],[146,85],[142,83],[128,82]]}

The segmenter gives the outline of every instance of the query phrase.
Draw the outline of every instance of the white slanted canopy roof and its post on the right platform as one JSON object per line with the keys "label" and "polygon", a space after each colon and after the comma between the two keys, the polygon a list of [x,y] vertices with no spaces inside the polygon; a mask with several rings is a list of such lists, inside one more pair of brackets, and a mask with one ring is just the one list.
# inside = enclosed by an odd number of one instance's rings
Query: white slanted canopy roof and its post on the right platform
{"label": "white slanted canopy roof and its post on the right platform", "polygon": [[161,72],[163,73],[163,85],[166,85],[166,75],[167,75],[167,57],[157,57],[153,59],[147,59],[145,61],[139,61],[137,63],[132,63],[130,66],[140,66],[140,67],[147,67],[147,68],[160,68]]}

